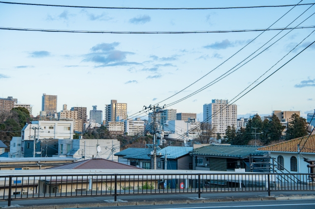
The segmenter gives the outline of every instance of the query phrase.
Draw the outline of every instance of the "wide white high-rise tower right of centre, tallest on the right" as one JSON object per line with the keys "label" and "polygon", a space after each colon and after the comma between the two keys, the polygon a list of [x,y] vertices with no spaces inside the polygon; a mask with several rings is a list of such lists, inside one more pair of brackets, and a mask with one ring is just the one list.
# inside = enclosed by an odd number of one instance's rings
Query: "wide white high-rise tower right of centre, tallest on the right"
{"label": "wide white high-rise tower right of centre, tallest on the right", "polygon": [[203,105],[203,121],[211,124],[214,133],[222,137],[228,126],[237,127],[237,105],[228,104],[228,100],[212,100]]}

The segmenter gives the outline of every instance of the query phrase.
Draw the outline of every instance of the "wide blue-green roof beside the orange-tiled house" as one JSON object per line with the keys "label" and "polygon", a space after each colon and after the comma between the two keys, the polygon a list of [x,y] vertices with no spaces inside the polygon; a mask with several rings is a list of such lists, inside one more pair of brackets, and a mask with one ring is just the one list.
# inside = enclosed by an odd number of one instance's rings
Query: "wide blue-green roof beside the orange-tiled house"
{"label": "wide blue-green roof beside the orange-tiled house", "polygon": [[235,145],[208,145],[199,147],[190,152],[195,156],[214,156],[214,157],[239,157],[247,158],[252,156],[264,156],[267,152],[257,151],[256,146],[235,146]]}

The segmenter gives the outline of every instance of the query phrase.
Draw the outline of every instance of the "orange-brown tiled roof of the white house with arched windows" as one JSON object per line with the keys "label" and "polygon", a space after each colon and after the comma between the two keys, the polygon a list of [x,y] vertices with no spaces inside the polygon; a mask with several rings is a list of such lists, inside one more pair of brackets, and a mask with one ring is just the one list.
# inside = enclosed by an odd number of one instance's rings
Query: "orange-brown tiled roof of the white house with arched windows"
{"label": "orange-brown tiled roof of the white house with arched windows", "polygon": [[[288,141],[280,142],[278,144],[260,147],[257,150],[261,151],[275,151],[275,152],[294,152],[297,153],[297,145],[300,144],[300,152],[302,153],[315,153],[315,135],[291,139]],[[302,139],[302,141],[301,141]],[[301,143],[300,143],[301,141]],[[306,141],[306,143],[305,143]],[[305,143],[305,146],[303,147]]]}

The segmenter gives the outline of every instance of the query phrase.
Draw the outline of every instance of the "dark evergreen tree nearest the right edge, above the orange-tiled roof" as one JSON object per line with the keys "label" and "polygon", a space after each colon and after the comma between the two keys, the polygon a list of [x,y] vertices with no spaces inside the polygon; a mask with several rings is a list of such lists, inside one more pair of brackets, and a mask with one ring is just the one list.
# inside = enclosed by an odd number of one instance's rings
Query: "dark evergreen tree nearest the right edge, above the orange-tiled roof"
{"label": "dark evergreen tree nearest the right edge, above the orange-tiled roof", "polygon": [[290,117],[285,134],[285,139],[289,140],[307,135],[308,134],[307,127],[308,124],[306,119],[294,113]]}

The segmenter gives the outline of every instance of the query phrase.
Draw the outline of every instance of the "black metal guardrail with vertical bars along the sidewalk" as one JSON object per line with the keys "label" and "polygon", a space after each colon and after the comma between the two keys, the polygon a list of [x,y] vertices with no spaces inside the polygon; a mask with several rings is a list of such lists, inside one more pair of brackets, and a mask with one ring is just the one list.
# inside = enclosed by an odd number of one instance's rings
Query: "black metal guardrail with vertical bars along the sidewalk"
{"label": "black metal guardrail with vertical bars along the sidewalk", "polygon": [[314,191],[314,174],[78,174],[0,176],[0,201],[218,192]]}

